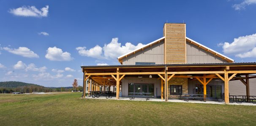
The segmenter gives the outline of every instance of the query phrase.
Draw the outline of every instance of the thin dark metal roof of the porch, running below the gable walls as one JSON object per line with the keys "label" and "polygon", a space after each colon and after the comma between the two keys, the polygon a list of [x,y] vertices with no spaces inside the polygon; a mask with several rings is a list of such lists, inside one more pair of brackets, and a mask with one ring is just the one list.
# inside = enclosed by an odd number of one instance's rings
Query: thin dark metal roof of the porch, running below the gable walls
{"label": "thin dark metal roof of the porch, running below the gable walls", "polygon": [[154,65],[109,65],[109,66],[81,66],[81,68],[122,68],[122,67],[154,67],[154,66],[232,66],[232,65],[256,65],[256,62],[250,63],[193,63],[193,64],[154,64]]}

